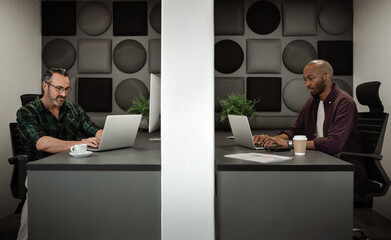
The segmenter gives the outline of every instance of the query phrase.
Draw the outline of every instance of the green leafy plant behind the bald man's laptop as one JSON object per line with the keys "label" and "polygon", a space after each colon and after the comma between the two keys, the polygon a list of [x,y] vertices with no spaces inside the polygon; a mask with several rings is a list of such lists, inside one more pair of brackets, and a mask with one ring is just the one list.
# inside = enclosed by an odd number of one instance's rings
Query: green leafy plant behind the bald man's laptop
{"label": "green leafy plant behind the bald man's laptop", "polygon": [[256,117],[255,104],[259,99],[248,100],[244,94],[230,93],[226,99],[219,99],[221,104],[221,123],[228,125],[228,115]]}

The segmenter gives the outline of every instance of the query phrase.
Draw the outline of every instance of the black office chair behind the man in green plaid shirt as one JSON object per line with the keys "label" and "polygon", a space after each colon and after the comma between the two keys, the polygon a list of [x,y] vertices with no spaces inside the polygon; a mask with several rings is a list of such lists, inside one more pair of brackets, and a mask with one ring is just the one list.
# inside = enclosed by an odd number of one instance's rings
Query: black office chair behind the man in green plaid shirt
{"label": "black office chair behind the man in green plaid shirt", "polygon": [[[21,95],[20,100],[22,105],[35,100],[37,96],[38,94]],[[27,189],[25,186],[25,180],[27,176],[26,164],[28,162],[28,157],[23,153],[18,124],[16,122],[10,123],[9,129],[12,146],[12,157],[8,159],[8,162],[14,166],[12,170],[10,187],[12,196],[16,199],[20,199],[20,203],[15,210],[15,213],[20,213],[26,200]]]}

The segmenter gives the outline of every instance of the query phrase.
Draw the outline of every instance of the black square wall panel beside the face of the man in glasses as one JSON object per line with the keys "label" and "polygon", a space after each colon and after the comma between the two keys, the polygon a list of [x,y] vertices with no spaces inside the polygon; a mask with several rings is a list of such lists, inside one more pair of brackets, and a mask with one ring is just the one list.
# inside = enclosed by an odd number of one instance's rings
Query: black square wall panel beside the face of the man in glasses
{"label": "black square wall panel beside the face of the man in glasses", "polygon": [[112,111],[111,78],[79,78],[77,85],[77,102],[86,112]]}

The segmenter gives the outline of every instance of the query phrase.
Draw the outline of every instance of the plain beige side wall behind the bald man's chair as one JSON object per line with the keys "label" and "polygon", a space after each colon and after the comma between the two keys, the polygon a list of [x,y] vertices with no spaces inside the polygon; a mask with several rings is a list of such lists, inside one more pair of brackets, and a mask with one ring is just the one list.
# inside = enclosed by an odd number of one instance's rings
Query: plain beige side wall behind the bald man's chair
{"label": "plain beige side wall behind the bald man's chair", "polygon": [[[380,99],[385,112],[391,113],[391,1],[354,0],[353,83],[354,87],[368,81],[380,81]],[[366,111],[367,107],[359,106]],[[391,120],[383,144],[383,161],[391,177]],[[376,198],[374,209],[391,219],[391,191]]]}

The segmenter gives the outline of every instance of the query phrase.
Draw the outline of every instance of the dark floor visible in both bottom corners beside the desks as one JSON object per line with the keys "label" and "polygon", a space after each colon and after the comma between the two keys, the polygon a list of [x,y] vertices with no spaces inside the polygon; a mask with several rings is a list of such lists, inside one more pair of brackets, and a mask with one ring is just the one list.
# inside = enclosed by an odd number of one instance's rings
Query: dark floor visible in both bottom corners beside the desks
{"label": "dark floor visible in both bottom corners beside the desks", "polygon": [[[11,214],[1,219],[0,240],[16,239],[19,221],[20,214]],[[364,230],[371,240],[391,240],[391,220],[372,209],[354,209],[354,227]]]}

